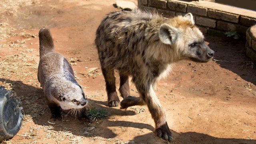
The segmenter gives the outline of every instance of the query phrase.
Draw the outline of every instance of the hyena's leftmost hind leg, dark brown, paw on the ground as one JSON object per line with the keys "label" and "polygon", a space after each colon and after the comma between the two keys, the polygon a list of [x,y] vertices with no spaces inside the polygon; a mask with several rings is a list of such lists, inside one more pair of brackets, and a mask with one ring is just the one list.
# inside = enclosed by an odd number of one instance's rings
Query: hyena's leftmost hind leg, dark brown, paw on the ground
{"label": "hyena's leftmost hind leg, dark brown, paw on the ground", "polygon": [[116,78],[113,68],[102,68],[102,73],[106,82],[106,90],[108,94],[108,106],[116,107],[120,105],[120,100],[116,92]]}

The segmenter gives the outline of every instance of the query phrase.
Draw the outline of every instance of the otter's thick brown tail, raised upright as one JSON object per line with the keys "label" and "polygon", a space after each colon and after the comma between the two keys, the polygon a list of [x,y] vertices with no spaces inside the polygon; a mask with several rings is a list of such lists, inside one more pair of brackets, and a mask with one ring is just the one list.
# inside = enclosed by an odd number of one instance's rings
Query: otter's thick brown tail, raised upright
{"label": "otter's thick brown tail, raised upright", "polygon": [[40,58],[50,52],[54,52],[54,43],[49,29],[41,28],[39,31]]}

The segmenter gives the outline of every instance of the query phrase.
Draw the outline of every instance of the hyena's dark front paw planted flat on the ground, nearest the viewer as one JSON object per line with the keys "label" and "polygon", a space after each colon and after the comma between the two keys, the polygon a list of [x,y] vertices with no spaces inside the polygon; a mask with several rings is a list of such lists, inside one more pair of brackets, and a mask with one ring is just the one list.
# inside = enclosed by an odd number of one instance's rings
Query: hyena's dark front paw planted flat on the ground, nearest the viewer
{"label": "hyena's dark front paw planted flat on the ground, nearest the viewer", "polygon": [[156,128],[156,134],[164,140],[168,140],[170,142],[173,140],[172,132],[170,131],[167,123],[160,126],[160,128]]}

